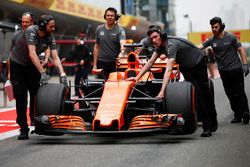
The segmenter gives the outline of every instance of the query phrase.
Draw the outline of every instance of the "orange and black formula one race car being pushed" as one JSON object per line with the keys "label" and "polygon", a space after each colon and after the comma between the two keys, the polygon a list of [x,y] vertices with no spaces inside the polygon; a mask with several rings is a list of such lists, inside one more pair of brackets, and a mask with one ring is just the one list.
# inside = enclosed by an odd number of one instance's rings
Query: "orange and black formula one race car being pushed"
{"label": "orange and black formula one race car being pushed", "polygon": [[[128,48],[139,47],[129,44]],[[180,72],[174,66],[164,99],[157,99],[166,61],[157,60],[138,83],[126,80],[136,76],[147,58],[131,51],[117,61],[117,71],[108,79],[84,80],[82,98],[72,98],[70,88],[45,84],[38,91],[35,130],[40,135],[180,133],[191,134],[197,127],[195,90],[189,82],[178,82]],[[101,70],[95,70],[100,73]]]}

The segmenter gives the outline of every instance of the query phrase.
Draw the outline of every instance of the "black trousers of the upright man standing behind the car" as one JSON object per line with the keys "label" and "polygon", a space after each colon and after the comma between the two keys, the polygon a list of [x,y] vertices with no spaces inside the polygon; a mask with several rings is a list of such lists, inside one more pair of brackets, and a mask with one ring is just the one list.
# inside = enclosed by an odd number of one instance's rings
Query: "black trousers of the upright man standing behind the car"
{"label": "black trousers of the upright man standing behind the car", "polygon": [[99,79],[108,79],[111,72],[116,71],[116,62],[97,62],[97,68],[103,69],[102,74],[98,76]]}

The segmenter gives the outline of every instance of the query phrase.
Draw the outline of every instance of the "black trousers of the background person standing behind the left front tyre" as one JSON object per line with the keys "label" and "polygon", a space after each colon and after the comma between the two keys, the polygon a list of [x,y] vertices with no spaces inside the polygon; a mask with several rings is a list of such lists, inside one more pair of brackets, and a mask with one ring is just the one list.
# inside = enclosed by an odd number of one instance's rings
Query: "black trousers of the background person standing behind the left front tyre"
{"label": "black trousers of the background person standing behind the left front tyre", "polygon": [[75,72],[75,95],[79,96],[79,86],[81,79],[87,79],[90,73],[90,66],[78,66]]}

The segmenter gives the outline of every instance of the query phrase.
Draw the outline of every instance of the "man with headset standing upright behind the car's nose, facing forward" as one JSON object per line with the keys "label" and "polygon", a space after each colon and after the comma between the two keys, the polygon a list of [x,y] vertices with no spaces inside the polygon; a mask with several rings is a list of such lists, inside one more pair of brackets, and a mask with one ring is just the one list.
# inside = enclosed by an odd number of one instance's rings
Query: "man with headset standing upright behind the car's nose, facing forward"
{"label": "man with headset standing upright behind the car's nose, facing forward", "polygon": [[117,23],[119,18],[117,10],[109,7],[104,14],[106,23],[96,29],[93,69],[103,69],[105,79],[108,78],[109,73],[116,70],[116,58],[120,52],[124,52],[126,35],[124,29]]}

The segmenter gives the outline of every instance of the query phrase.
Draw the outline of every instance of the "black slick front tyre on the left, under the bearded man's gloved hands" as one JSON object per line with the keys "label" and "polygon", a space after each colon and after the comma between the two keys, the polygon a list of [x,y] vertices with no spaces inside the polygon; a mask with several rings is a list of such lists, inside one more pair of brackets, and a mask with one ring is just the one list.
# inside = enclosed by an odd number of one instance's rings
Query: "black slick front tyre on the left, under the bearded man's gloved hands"
{"label": "black slick front tyre on the left, under the bearded man's gloved hands", "polygon": [[36,97],[35,116],[66,115],[64,101],[69,98],[69,89],[63,84],[41,85]]}

